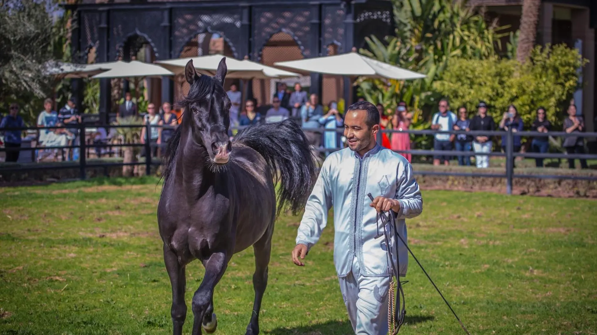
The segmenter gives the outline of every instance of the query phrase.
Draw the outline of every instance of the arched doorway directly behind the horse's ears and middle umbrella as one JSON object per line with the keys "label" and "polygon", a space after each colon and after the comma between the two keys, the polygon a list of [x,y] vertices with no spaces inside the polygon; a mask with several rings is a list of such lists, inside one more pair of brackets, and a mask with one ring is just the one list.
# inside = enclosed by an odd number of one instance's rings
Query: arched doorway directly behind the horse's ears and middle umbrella
{"label": "arched doorway directly behind the horse's ears and middle umbrella", "polygon": [[[215,32],[204,32],[193,36],[193,38],[184,45],[179,58],[213,54],[223,54],[226,57],[234,57],[229,42],[226,41],[223,36]],[[180,98],[184,97],[184,95],[189,92],[189,83],[184,79],[177,80],[179,80],[179,82],[174,85],[174,100],[180,101]],[[227,91],[233,82],[233,79],[226,79],[224,82],[224,90]],[[236,85],[238,85],[238,83],[236,83]]]}

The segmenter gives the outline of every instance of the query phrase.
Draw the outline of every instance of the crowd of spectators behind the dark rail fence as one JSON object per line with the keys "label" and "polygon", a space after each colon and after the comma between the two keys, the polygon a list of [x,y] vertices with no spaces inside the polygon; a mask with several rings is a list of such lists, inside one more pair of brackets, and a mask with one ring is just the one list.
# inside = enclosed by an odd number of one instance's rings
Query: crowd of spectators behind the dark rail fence
{"label": "crowd of spectators behind the dark rail fence", "polygon": [[[233,129],[238,126],[250,126],[257,123],[279,122],[285,119],[295,120],[304,130],[304,133],[311,145],[315,148],[330,149],[327,154],[336,148],[345,146],[345,139],[341,129],[344,126],[343,113],[338,110],[336,101],[331,101],[324,108],[319,103],[319,97],[316,94],[308,95],[299,83],[294,85],[294,91],[290,91],[285,83],[279,83],[276,87],[271,101],[271,105],[259,105],[254,98],[248,99],[242,103],[242,94],[238,86],[234,83],[230,85],[227,95],[230,98],[230,137],[233,136]],[[359,98],[359,100],[364,100]],[[60,108],[58,112],[53,110],[53,101],[48,98],[44,101],[44,110],[39,113],[36,125],[38,127],[57,127],[54,129],[39,129],[37,160],[56,159],[59,150],[56,147],[73,146],[76,147],[81,141],[79,134],[79,123],[81,113],[76,108],[76,100],[71,97],[67,103]],[[19,105],[11,104],[10,113],[2,118],[0,128],[19,128],[26,124],[23,118],[19,116]],[[410,129],[413,123],[413,113],[408,110],[404,101],[398,103],[396,110],[384,110],[384,106],[377,104],[380,113],[381,130],[391,129],[392,132],[381,133],[381,145],[397,151],[406,157],[409,162],[413,155],[408,151],[414,149],[411,139],[414,135],[402,132]],[[490,153],[494,145],[498,150],[506,151],[509,145],[507,136],[491,135],[469,135],[469,131],[509,131],[513,133],[524,130],[524,123],[519,116],[518,110],[514,105],[510,105],[507,111],[503,113],[500,122],[494,122],[494,117],[490,115],[488,105],[481,101],[476,106],[476,113],[470,117],[466,107],[458,107],[457,113],[450,109],[450,103],[447,99],[441,99],[438,103],[438,111],[431,118],[430,129],[436,131],[433,134],[433,165],[449,165],[454,159],[449,151],[473,151],[474,162],[477,168],[488,168],[490,166]],[[567,108],[567,117],[563,122],[563,129],[569,134],[583,132],[585,129],[582,116],[577,116],[576,106],[571,104]],[[118,117],[137,116],[140,114],[139,107],[133,102],[130,92],[125,93],[124,102],[118,108]],[[174,133],[174,127],[180,123],[180,111],[173,111],[170,103],[162,104],[161,108],[156,108],[155,104],[147,105],[146,113],[142,114],[143,125],[152,125],[149,131],[149,137],[146,134],[146,128],[141,129],[140,142],[145,144],[147,138],[150,141],[150,153],[146,153],[143,147],[141,155],[150,154],[158,156],[159,148],[170,140]],[[170,127],[162,127],[170,126]],[[450,134],[445,131],[464,131],[464,134]],[[552,124],[547,120],[546,110],[543,107],[537,108],[536,119],[533,121],[530,131],[544,133],[544,136],[535,136],[529,138],[527,150],[536,153],[547,153],[549,151],[549,133],[554,131]],[[4,131],[4,145],[6,148],[19,148],[21,146],[21,131]],[[89,135],[89,134],[88,134]],[[105,153],[101,144],[106,144],[109,134],[107,129],[97,127],[96,131],[90,135],[91,141],[96,145],[96,154],[101,157]],[[519,135],[513,135],[512,147],[514,152],[521,151],[522,138]],[[562,140],[562,147],[568,154],[584,153],[584,138],[581,136],[565,137]],[[45,149],[47,148],[47,149]],[[66,160],[78,159],[78,148],[67,151]],[[64,156],[64,154],[63,154]],[[456,156],[458,165],[470,166],[472,164],[470,155]],[[6,161],[17,162],[19,151],[7,150]],[[536,159],[536,166],[543,167],[543,159]],[[587,162],[580,160],[581,168],[587,168]],[[575,168],[574,159],[568,159],[570,168]]]}

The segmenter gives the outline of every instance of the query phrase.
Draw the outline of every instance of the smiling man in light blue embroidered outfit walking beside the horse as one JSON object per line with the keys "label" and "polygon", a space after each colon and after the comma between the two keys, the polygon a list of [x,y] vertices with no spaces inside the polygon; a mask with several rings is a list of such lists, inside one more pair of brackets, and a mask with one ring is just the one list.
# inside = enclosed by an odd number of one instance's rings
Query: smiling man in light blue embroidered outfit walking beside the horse
{"label": "smiling man in light blue embroidered outfit walking beside the horse", "polygon": [[[359,101],[344,117],[348,148],[325,159],[307,204],[293,250],[293,262],[301,259],[321,236],[328,210],[334,206],[334,265],[340,290],[356,334],[386,335],[388,291],[392,277],[390,262],[401,277],[407,273],[407,249],[398,243],[398,255],[386,252],[383,229],[377,225],[377,212],[392,210],[397,231],[407,240],[405,219],[423,210],[423,200],[407,159],[380,147],[375,141],[380,116],[376,106]],[[373,202],[367,197],[377,196]]]}

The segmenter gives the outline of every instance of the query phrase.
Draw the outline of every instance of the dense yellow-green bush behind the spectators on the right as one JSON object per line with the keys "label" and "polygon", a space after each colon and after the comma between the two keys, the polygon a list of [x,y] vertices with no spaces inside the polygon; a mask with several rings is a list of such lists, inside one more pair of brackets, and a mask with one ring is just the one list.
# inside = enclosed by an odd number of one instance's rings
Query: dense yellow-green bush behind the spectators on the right
{"label": "dense yellow-green bush behind the spectators on the right", "polygon": [[538,107],[546,108],[547,119],[561,125],[567,101],[578,88],[578,69],[587,60],[565,45],[537,46],[524,64],[516,60],[467,60],[454,58],[435,89],[450,97],[453,108],[476,110],[479,101],[490,106],[496,122],[514,104],[526,126]]}

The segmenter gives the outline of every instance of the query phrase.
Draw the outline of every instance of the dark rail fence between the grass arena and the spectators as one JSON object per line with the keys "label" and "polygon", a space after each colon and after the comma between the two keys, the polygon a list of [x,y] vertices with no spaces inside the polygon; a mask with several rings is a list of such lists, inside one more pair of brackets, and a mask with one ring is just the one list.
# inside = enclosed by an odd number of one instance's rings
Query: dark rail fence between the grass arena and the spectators
{"label": "dark rail fence between the grass arena and the spectators", "polygon": [[[30,147],[30,148],[0,148],[1,151],[10,152],[10,151],[29,151],[29,150],[51,150],[51,149],[74,149],[79,148],[79,178],[85,179],[86,178],[86,170],[88,168],[107,168],[109,166],[126,166],[126,165],[144,165],[146,169],[146,174],[149,175],[151,172],[152,166],[160,165],[159,162],[152,161],[152,147],[160,146],[160,144],[152,143],[150,140],[150,133],[153,127],[158,128],[167,128],[173,129],[172,126],[155,126],[149,125],[141,126],[141,125],[85,125],[80,124],[77,126],[79,129],[79,134],[85,134],[85,130],[88,128],[136,128],[140,129],[145,127],[145,138],[144,144],[141,143],[121,143],[121,144],[93,144],[95,148],[107,148],[107,147],[144,147],[145,151],[145,160],[144,162],[136,162],[136,163],[124,163],[124,162],[101,162],[101,163],[88,163],[86,157],[86,150],[87,150],[87,143],[85,138],[82,137],[79,139],[78,145],[64,145],[59,147]],[[42,130],[42,129],[64,129],[64,126],[59,127],[26,127],[26,128],[3,128],[0,129],[0,132],[4,131],[25,131],[25,130]],[[69,126],[69,128],[74,128]],[[238,127],[233,128],[238,131],[242,131],[246,127]],[[313,129],[304,129],[308,131],[313,131]],[[329,131],[336,131],[336,132],[343,132],[343,129],[318,129],[318,132],[322,134],[324,132]],[[487,153],[475,153],[473,151],[441,151],[442,156],[493,156],[493,157],[506,157],[506,171],[505,173],[475,173],[475,172],[453,172],[453,171],[421,171],[416,170],[414,173],[418,175],[439,175],[439,176],[479,176],[479,177],[486,177],[486,178],[505,178],[506,179],[506,191],[507,194],[512,194],[512,183],[513,178],[544,178],[544,179],[581,179],[581,180],[589,180],[589,181],[597,181],[597,175],[587,175],[587,176],[579,176],[579,175],[552,175],[549,173],[545,174],[516,174],[515,173],[515,158],[516,157],[527,157],[527,158],[543,158],[543,159],[597,159],[597,154],[567,154],[567,153],[516,153],[514,152],[514,137],[589,137],[589,138],[597,138],[597,132],[573,132],[573,133],[566,133],[566,132],[549,132],[549,133],[541,133],[541,132],[531,132],[531,131],[522,131],[522,132],[512,132],[510,129],[509,131],[432,131],[432,130],[404,130],[404,131],[395,131],[392,129],[384,129],[381,131],[383,134],[394,134],[394,133],[406,133],[406,134],[414,134],[414,135],[436,135],[436,134],[465,134],[475,136],[488,136],[488,137],[498,137],[504,136],[506,137],[506,146],[505,146],[505,153],[497,152],[497,151],[490,151]],[[80,135],[79,135],[80,136]],[[381,136],[377,137],[377,141],[381,143]],[[163,144],[162,144],[163,145]],[[319,148],[321,153],[331,153],[333,151],[341,150],[341,148]],[[432,156],[437,155],[438,151],[436,150],[399,150],[396,151],[397,153],[410,153],[414,156]],[[39,165],[5,165],[0,167],[0,173],[8,172],[8,171],[26,171],[26,170],[39,170],[39,169],[73,169],[73,165],[44,165],[43,163],[39,163]]]}

